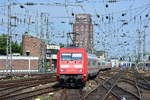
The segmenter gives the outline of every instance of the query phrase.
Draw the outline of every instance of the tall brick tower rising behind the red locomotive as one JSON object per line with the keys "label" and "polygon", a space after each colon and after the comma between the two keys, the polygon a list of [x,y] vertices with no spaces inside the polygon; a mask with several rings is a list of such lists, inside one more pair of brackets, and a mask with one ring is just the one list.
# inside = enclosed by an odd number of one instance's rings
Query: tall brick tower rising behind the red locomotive
{"label": "tall brick tower rising behind the red locomotive", "polygon": [[93,24],[90,14],[75,15],[73,32],[78,34],[75,39],[76,46],[80,46],[87,51],[91,51],[93,48]]}

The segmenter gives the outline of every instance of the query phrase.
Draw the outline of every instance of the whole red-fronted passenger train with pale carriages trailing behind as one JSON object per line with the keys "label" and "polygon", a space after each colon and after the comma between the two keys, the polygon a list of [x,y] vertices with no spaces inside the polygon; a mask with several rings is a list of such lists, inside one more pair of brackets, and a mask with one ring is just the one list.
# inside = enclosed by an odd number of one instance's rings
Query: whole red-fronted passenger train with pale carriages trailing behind
{"label": "whole red-fronted passenger train with pale carriages trailing behind", "polygon": [[88,54],[83,48],[61,48],[57,54],[57,78],[60,83],[85,83],[102,69],[111,69],[111,65]]}

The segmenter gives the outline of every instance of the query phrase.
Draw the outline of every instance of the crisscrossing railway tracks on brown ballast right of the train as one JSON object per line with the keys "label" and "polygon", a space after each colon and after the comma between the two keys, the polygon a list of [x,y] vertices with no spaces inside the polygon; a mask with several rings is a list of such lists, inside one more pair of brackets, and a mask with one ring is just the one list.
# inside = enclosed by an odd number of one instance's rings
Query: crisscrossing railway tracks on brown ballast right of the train
{"label": "crisscrossing railway tracks on brown ballast right of the train", "polygon": [[[94,80],[93,80],[94,81]],[[63,89],[54,100],[149,100],[149,85],[137,79],[130,71],[105,71],[85,89]],[[98,84],[91,88],[91,83]],[[120,85],[121,84],[121,85]],[[89,88],[88,88],[89,87]],[[147,89],[144,89],[147,88]]]}

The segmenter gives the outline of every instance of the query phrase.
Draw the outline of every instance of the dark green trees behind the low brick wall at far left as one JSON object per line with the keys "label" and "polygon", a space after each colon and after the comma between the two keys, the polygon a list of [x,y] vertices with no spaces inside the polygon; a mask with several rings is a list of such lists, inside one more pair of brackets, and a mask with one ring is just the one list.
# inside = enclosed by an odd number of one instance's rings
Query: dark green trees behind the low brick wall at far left
{"label": "dark green trees behind the low brick wall at far left", "polygon": [[[12,53],[22,54],[22,43],[12,42]],[[7,35],[0,35],[0,55],[6,55]]]}

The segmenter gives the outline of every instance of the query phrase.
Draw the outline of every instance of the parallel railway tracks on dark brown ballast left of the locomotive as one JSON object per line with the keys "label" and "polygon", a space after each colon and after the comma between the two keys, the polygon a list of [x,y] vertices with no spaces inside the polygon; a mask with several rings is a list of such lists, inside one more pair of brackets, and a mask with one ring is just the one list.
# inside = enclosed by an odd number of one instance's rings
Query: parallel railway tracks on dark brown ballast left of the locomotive
{"label": "parallel railway tracks on dark brown ballast left of the locomotive", "polygon": [[20,97],[24,97],[26,99],[27,97],[33,97],[41,95],[43,93],[56,91],[57,89],[54,89],[51,86],[37,90],[34,89],[30,91],[25,91],[30,88],[38,88],[40,86],[45,86],[49,83],[56,83],[55,74],[42,75],[22,80],[0,81],[0,100],[9,100],[9,98],[10,100],[12,100],[12,97],[14,98],[13,100],[18,100],[20,99]]}

